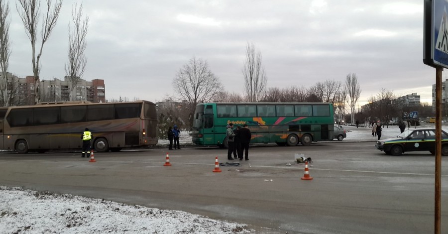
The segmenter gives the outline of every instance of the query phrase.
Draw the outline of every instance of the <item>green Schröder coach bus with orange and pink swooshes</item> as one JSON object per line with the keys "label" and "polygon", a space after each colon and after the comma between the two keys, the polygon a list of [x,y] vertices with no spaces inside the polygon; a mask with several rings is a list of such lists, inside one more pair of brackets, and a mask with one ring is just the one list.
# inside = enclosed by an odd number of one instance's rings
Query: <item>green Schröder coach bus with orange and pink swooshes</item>
{"label": "green Schr\u00f6der coach bus with orange and pink swooshes", "polygon": [[247,124],[250,143],[310,145],[333,140],[331,103],[202,103],[193,117],[192,140],[197,145],[227,146],[228,123]]}

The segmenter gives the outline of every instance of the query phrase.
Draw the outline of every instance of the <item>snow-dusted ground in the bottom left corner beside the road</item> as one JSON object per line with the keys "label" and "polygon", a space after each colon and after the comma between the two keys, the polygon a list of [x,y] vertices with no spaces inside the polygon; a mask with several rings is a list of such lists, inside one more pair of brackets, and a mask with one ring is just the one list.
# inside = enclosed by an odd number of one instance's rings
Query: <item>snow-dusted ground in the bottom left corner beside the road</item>
{"label": "snow-dusted ground in the bottom left corner beside the road", "polygon": [[183,211],[0,186],[0,234],[251,233],[246,225]]}

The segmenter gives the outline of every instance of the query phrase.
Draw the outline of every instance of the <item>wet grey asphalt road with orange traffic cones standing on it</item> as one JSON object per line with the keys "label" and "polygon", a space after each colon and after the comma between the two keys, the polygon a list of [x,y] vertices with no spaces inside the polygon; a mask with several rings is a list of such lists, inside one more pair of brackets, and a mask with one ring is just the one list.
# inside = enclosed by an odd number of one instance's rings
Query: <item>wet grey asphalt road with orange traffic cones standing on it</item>
{"label": "wet grey asphalt road with orange traffic cones standing on it", "polygon": [[[259,145],[240,167],[213,173],[226,150],[0,154],[0,185],[24,186],[246,223],[259,233],[434,233],[434,156],[390,156],[374,142]],[[301,180],[311,157],[311,181]],[[445,158],[444,158],[445,159]],[[287,166],[290,163],[291,166]],[[442,165],[442,233],[448,232],[448,166]],[[271,181],[272,180],[272,181]],[[265,227],[267,229],[262,229]]]}

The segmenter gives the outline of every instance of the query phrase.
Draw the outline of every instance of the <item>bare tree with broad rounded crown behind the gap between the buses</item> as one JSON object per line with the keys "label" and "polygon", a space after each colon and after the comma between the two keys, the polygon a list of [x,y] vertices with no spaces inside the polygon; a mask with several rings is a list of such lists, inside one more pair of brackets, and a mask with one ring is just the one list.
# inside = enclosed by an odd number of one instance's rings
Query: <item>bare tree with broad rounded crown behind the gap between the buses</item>
{"label": "bare tree with broad rounded crown behind the gap between the buses", "polygon": [[195,56],[176,73],[173,88],[175,96],[186,100],[187,110],[191,115],[198,103],[210,102],[223,90],[220,79],[210,70],[207,61]]}

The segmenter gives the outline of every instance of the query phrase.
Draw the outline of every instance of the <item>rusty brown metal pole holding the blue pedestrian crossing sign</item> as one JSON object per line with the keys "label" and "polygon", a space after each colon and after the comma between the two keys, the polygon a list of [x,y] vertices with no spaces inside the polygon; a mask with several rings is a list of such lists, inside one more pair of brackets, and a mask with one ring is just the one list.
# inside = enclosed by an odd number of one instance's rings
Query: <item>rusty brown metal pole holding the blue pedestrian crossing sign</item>
{"label": "rusty brown metal pole holding the blue pedestrian crossing sign", "polygon": [[441,233],[441,196],[442,196],[442,67],[436,68],[436,188],[434,204],[434,233]]}

